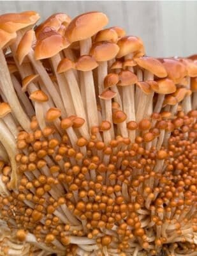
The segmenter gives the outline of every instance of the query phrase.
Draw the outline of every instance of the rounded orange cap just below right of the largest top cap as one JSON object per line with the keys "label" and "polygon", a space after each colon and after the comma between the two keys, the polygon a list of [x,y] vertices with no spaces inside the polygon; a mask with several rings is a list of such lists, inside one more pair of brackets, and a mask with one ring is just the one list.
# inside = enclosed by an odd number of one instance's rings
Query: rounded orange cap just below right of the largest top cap
{"label": "rounded orange cap just below right of the largest top cap", "polygon": [[90,54],[96,61],[108,61],[115,58],[119,52],[117,44],[110,42],[97,42],[92,44]]}

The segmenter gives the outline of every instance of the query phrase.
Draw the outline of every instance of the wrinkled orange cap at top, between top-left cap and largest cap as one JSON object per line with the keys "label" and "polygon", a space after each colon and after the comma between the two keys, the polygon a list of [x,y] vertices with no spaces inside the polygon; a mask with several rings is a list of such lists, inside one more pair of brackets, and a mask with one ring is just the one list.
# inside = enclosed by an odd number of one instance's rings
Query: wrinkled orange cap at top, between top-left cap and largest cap
{"label": "wrinkled orange cap at top, between top-left cap and largest cap", "polygon": [[55,31],[58,31],[62,24],[66,27],[70,22],[71,18],[66,13],[54,13],[36,28],[36,37],[38,37],[40,32],[46,27],[50,27]]}

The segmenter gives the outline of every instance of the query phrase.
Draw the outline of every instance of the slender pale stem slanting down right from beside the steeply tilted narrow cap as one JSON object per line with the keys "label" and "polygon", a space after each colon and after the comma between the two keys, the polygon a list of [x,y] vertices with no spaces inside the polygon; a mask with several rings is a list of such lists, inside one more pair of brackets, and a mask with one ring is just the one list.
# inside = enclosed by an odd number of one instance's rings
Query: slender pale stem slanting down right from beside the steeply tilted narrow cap
{"label": "slender pale stem slanting down right from beside the steeply tilted narrow cap", "polygon": [[31,50],[28,54],[29,60],[31,60],[31,63],[33,67],[35,68],[36,72],[40,75],[41,80],[43,81],[43,84],[47,88],[47,91],[50,93],[55,106],[62,111],[62,116],[66,116],[66,110],[64,108],[64,105],[62,103],[61,96],[57,92],[57,89],[54,86],[54,83],[51,81],[50,77],[48,76],[47,71],[43,67],[40,60],[35,60],[34,58],[34,52]]}

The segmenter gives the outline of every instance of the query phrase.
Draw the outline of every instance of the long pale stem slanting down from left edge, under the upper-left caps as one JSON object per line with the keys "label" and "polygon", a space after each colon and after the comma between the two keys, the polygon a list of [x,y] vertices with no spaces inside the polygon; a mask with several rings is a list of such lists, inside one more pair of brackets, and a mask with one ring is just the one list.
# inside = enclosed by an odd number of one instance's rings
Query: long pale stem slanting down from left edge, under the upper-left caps
{"label": "long pale stem slanting down from left edge, under the upper-left caps", "polygon": [[6,99],[10,104],[10,108],[16,116],[19,124],[24,128],[25,131],[30,131],[30,122],[29,118],[22,109],[18,97],[15,93],[15,89],[13,88],[13,84],[11,83],[10,72],[8,70],[8,66],[6,64],[6,59],[4,58],[4,53],[0,49],[0,81],[1,88],[3,90],[4,95],[6,95]]}

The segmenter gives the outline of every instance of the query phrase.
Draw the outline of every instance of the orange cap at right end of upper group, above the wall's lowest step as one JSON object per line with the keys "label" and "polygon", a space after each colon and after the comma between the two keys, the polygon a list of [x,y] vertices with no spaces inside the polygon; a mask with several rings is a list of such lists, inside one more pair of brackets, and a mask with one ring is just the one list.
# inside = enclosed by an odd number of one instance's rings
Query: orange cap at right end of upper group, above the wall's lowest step
{"label": "orange cap at right end of upper group, above the wall's lowest step", "polygon": [[138,52],[143,48],[142,40],[136,36],[124,36],[120,38],[117,45],[119,45],[120,48],[117,58],[122,58],[127,54]]}

